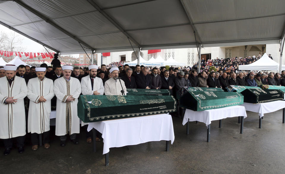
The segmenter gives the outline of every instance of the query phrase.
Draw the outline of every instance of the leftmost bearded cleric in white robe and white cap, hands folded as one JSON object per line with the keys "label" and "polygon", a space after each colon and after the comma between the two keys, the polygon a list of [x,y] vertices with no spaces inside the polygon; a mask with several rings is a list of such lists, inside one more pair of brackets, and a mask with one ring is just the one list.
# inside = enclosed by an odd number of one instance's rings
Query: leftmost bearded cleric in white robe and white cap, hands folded
{"label": "leftmost bearded cleric in white robe and white cap, hands folded", "polygon": [[26,116],[24,98],[27,85],[24,78],[15,76],[17,66],[4,66],[6,77],[0,78],[0,138],[8,155],[12,149],[12,138],[17,139],[18,152],[24,152]]}

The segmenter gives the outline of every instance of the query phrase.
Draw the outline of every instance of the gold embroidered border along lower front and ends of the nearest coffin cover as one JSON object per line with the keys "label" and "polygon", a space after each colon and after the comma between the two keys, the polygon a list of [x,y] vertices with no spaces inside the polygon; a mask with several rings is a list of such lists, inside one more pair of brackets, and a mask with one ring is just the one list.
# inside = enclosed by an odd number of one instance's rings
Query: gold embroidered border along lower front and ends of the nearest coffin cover
{"label": "gold embroidered border along lower front and ends of the nearest coffin cover", "polygon": [[176,99],[172,97],[173,101],[174,101],[174,106],[173,106],[173,109],[166,109],[166,110],[161,110],[161,111],[154,111],[154,112],[142,112],[142,113],[133,113],[133,114],[116,114],[116,115],[105,115],[105,116],[100,116],[100,117],[91,117],[90,116],[90,112],[91,112],[91,109],[90,109],[90,106],[89,106],[89,103],[87,101],[87,97],[86,96],[83,96],[84,99],[85,99],[85,102],[86,102],[86,106],[87,106],[87,110],[88,110],[88,113],[87,113],[87,117],[89,118],[90,121],[93,121],[93,120],[99,120],[99,119],[105,119],[105,118],[115,118],[115,117],[126,117],[126,116],[139,116],[139,115],[152,115],[152,114],[160,114],[160,113],[168,113],[168,112],[175,112],[176,111]]}

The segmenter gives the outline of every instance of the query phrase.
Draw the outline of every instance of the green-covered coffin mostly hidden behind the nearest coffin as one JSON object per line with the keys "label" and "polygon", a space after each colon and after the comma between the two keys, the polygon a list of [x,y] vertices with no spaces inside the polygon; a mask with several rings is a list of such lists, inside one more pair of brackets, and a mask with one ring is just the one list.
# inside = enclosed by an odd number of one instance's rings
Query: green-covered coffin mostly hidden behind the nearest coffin
{"label": "green-covered coffin mostly hidden behind the nearest coffin", "polygon": [[169,96],[168,89],[127,89],[128,96]]}

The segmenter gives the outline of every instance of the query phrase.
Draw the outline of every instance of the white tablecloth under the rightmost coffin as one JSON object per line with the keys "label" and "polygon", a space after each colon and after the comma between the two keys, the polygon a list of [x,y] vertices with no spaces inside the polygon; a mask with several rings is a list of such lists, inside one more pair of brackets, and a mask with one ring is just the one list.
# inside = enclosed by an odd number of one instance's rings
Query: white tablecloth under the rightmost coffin
{"label": "white tablecloth under the rightmost coffin", "polygon": [[264,114],[277,111],[279,109],[285,108],[285,101],[278,100],[266,103],[243,103],[240,106],[244,106],[247,111],[259,113],[259,118],[263,117]]}

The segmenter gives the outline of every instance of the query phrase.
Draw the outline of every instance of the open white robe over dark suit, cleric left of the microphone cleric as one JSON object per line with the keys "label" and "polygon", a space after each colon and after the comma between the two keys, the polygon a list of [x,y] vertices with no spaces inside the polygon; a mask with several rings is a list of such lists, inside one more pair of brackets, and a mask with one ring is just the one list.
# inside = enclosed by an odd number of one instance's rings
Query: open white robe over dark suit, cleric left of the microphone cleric
{"label": "open white robe over dark suit, cleric left of the microphone cleric", "polygon": [[[98,91],[100,93],[99,95],[104,94],[104,85],[103,85],[102,79],[99,77],[94,78],[93,90],[92,90],[90,76],[87,75],[87,76],[83,77],[81,79],[81,93],[82,93],[82,95],[93,95],[94,91]],[[88,123],[83,123],[83,121],[81,121],[81,126],[84,126],[84,125],[88,125]]]}

